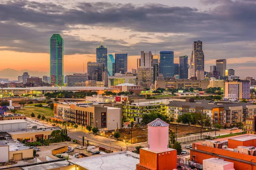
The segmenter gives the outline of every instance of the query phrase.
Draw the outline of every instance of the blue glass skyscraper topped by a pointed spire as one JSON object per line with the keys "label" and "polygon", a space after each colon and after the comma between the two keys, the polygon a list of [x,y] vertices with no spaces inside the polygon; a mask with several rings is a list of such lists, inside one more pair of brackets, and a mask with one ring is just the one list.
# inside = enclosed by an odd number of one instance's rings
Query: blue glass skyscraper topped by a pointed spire
{"label": "blue glass skyscraper topped by a pointed spire", "polygon": [[101,45],[98,45],[98,48],[96,48],[96,62],[102,62],[103,63],[103,70],[108,70],[108,49],[106,46],[103,45],[103,42],[101,42]]}

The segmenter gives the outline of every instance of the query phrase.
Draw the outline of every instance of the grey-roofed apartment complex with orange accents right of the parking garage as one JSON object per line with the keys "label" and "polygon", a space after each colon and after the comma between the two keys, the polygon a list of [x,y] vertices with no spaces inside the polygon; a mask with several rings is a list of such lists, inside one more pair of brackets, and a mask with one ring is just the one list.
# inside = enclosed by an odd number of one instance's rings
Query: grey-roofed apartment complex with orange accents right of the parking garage
{"label": "grey-roofed apartment complex with orange accents right of the parking garage", "polygon": [[202,113],[211,122],[230,126],[236,122],[246,122],[247,117],[256,115],[256,105],[244,102],[215,102],[212,100],[187,99],[186,102],[173,101],[166,105],[167,115],[177,121],[184,113]]}

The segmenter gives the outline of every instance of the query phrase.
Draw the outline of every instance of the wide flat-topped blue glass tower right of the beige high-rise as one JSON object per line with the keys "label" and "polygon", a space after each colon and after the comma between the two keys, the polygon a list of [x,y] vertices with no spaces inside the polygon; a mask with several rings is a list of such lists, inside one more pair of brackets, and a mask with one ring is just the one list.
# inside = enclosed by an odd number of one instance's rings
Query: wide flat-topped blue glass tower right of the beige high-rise
{"label": "wide flat-topped blue glass tower right of the beige high-rise", "polygon": [[174,77],[174,52],[160,51],[159,73],[163,77]]}

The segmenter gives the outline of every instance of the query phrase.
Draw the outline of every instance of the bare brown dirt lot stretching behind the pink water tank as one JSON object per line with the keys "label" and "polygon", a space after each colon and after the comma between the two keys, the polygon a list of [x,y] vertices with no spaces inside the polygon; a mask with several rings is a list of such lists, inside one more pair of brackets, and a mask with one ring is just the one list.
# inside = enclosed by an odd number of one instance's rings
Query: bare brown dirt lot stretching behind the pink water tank
{"label": "bare brown dirt lot stretching behind the pink water tank", "polygon": [[[175,124],[170,124],[169,129],[172,130],[173,132],[176,133],[176,125]],[[194,126],[186,126],[186,125],[178,125],[177,127],[177,136],[186,136],[190,133],[200,133],[201,128],[200,127],[194,127]],[[202,132],[205,129],[202,128]],[[131,132],[130,128],[126,129],[121,129],[119,132],[121,133],[121,136],[119,139],[124,140],[126,136],[126,140],[131,139]],[[148,129],[146,127],[142,128],[133,128],[132,129],[132,137],[137,137],[137,136],[145,136],[148,133]],[[110,136],[111,132],[106,133],[106,135]]]}

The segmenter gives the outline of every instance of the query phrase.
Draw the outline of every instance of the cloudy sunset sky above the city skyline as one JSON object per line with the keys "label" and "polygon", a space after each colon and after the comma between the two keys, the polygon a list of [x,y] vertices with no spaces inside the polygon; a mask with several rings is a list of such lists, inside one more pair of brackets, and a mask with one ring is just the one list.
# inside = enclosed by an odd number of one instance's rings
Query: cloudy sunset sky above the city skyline
{"label": "cloudy sunset sky above the city skyline", "polygon": [[108,54],[128,53],[128,71],[140,51],[191,56],[201,40],[205,71],[216,59],[244,78],[256,78],[256,0],[0,0],[0,78],[49,75],[49,38],[64,39],[64,74]]}

